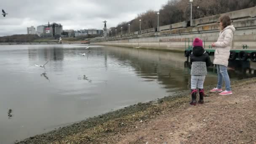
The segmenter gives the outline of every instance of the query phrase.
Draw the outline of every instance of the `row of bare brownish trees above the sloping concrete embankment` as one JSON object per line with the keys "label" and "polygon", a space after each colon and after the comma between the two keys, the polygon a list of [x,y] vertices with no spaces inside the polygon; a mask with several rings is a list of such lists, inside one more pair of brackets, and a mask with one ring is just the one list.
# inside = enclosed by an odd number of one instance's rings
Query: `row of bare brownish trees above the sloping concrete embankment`
{"label": "row of bare brownish trees above the sloping concrete embankment", "polygon": [[[192,3],[192,19],[251,8],[255,5],[256,0],[194,0]],[[199,8],[197,8],[198,6]],[[189,21],[190,11],[189,0],[169,0],[159,10],[159,25]],[[141,29],[157,27],[157,11],[148,10],[138,14],[131,21],[121,22],[116,27],[111,27],[113,36],[115,36],[115,29],[117,29],[117,35],[121,34],[121,27],[123,27],[123,34],[128,33],[128,24],[131,24],[130,32],[139,31],[139,19],[141,19]]]}

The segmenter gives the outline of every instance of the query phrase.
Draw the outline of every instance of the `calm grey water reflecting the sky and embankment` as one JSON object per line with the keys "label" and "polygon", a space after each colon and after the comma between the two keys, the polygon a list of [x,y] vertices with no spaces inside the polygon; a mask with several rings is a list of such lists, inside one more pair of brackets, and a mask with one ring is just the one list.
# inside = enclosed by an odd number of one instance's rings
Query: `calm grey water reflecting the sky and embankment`
{"label": "calm grey water reflecting the sky and embankment", "polygon": [[[190,88],[183,53],[107,46],[89,51],[85,57],[79,55],[85,45],[0,46],[0,144]],[[45,61],[45,69],[35,67]],[[229,67],[231,79],[255,73],[240,66]],[[208,71],[205,85],[216,83],[216,69]]]}

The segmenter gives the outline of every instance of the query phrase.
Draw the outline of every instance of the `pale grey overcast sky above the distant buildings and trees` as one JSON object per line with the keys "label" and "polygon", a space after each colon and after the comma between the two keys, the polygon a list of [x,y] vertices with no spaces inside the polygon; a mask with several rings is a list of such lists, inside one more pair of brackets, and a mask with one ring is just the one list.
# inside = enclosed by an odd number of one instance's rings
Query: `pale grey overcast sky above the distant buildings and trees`
{"label": "pale grey overcast sky above the distant buildings and trees", "polygon": [[168,0],[0,0],[0,36],[27,34],[27,27],[56,22],[63,29],[102,29],[134,19],[149,9],[159,10]]}

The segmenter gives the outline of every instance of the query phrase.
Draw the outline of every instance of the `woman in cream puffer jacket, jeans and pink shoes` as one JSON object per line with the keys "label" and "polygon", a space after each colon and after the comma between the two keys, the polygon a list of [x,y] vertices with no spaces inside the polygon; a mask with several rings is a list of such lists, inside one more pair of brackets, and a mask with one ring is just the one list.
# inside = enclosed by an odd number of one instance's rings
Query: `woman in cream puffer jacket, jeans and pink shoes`
{"label": "woman in cream puffer jacket, jeans and pink shoes", "polygon": [[[213,64],[216,64],[218,73],[217,87],[213,88],[211,92],[221,92],[220,95],[232,94],[230,87],[229,75],[227,73],[227,66],[229,63],[230,49],[232,48],[232,40],[235,32],[235,27],[231,25],[229,16],[221,16],[219,18],[221,32],[216,43],[212,47],[216,47],[214,53]],[[226,90],[222,91],[223,79],[225,81]]]}

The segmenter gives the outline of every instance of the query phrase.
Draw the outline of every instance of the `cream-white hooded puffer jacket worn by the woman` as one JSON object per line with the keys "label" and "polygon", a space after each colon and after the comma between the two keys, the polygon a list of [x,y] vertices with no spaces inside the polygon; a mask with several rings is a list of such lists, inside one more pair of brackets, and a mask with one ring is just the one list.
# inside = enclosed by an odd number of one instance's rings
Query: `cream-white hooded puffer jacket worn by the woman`
{"label": "cream-white hooded puffer jacket worn by the woman", "polygon": [[216,50],[214,53],[213,64],[220,64],[228,66],[230,49],[232,48],[233,34],[235,32],[235,27],[233,25],[227,26],[223,29],[220,34],[216,45]]}

